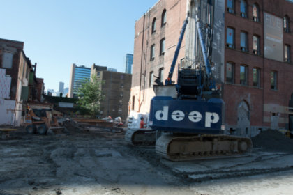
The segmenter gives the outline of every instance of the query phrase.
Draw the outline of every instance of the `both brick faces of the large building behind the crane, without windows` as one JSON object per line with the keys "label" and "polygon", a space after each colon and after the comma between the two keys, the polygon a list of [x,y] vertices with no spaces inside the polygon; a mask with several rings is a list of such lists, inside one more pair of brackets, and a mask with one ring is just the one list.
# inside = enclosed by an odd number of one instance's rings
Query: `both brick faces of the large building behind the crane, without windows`
{"label": "both brick faces of the large building behind the crane, without windows", "polygon": [[[164,79],[170,70],[174,49],[178,42],[179,32],[186,17],[187,0],[160,0],[135,23],[135,45],[133,56],[133,85],[131,104],[135,111],[148,112],[150,100],[154,93],[149,86],[150,72],[158,76],[159,68],[164,68]],[[293,20],[293,3],[285,0],[247,0],[247,17],[241,16],[241,1],[234,0],[234,13],[227,11],[225,1],[225,42],[227,27],[234,29],[234,48],[225,47],[226,63],[234,64],[234,83],[226,80],[227,70],[222,83],[222,95],[225,101],[226,127],[237,129],[238,134],[251,134],[250,130],[258,128],[289,128],[289,102],[293,94],[293,24],[289,33],[283,33],[283,44],[290,45],[290,62],[276,61],[264,57],[264,13],[276,16],[283,21],[285,15]],[[253,5],[259,8],[259,21],[253,20]],[[161,27],[160,20],[163,10],[167,10],[167,23]],[[151,33],[151,24],[156,17],[156,32]],[[289,22],[290,23],[290,22]],[[247,51],[240,47],[240,33],[247,34]],[[259,37],[259,54],[253,53],[253,36]],[[160,40],[165,38],[165,55],[160,56]],[[155,44],[155,58],[150,60],[151,45]],[[180,62],[185,56],[185,42],[181,46]],[[247,84],[241,84],[240,67],[247,68]],[[260,70],[260,86],[253,86],[253,68]],[[271,89],[271,72],[276,72],[276,90]],[[176,71],[174,72],[176,78]],[[176,79],[174,79],[176,80]],[[133,101],[134,100],[134,101]],[[291,106],[293,107],[293,105]],[[242,115],[241,115],[242,114]],[[247,121],[241,122],[241,116]],[[246,127],[247,126],[247,127]],[[290,127],[291,130],[293,126]]]}

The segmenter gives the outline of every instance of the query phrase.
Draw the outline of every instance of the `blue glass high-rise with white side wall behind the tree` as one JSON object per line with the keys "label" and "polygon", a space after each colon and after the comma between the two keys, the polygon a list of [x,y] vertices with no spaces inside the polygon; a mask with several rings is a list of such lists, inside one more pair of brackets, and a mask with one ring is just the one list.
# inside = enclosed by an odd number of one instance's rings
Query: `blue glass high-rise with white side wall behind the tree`
{"label": "blue glass high-rise with white side wall behind the tree", "polygon": [[77,98],[77,89],[80,88],[82,81],[90,79],[91,68],[84,65],[77,66],[75,63],[71,65],[70,81],[69,81],[69,98]]}

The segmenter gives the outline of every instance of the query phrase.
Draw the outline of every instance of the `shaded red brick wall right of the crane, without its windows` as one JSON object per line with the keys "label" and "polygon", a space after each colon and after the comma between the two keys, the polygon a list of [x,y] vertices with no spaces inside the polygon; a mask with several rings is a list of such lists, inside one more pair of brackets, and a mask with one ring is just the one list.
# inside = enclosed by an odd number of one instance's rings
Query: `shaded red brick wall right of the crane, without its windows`
{"label": "shaded red brick wall right of the crane, without its windows", "polygon": [[[225,49],[225,62],[235,63],[235,84],[225,84],[223,99],[226,102],[226,123],[236,125],[237,107],[242,100],[249,104],[250,125],[270,126],[270,123],[263,122],[263,116],[270,116],[264,111],[264,104],[279,104],[287,107],[291,94],[293,93],[293,64],[274,61],[264,58],[264,17],[263,13],[270,13],[283,18],[288,15],[293,20],[293,3],[287,1],[247,1],[248,18],[240,16],[240,1],[235,3],[235,13],[225,13],[225,26],[235,29],[235,49]],[[262,5],[264,2],[264,5]],[[253,22],[252,8],[253,3],[260,6],[260,22]],[[292,23],[292,22],[291,22]],[[291,24],[291,32],[292,32]],[[240,32],[248,33],[248,52],[240,51]],[[253,35],[260,36],[260,56],[253,54]],[[284,33],[284,44],[291,45],[291,61],[293,34]],[[248,65],[248,86],[241,86],[239,82],[240,65]],[[260,68],[260,88],[253,87],[253,68]],[[278,90],[271,90],[270,72],[278,72]],[[287,118],[287,114],[280,114]],[[285,123],[280,123],[280,127],[285,127]]]}

